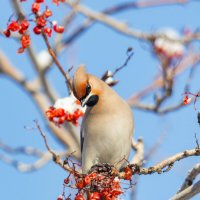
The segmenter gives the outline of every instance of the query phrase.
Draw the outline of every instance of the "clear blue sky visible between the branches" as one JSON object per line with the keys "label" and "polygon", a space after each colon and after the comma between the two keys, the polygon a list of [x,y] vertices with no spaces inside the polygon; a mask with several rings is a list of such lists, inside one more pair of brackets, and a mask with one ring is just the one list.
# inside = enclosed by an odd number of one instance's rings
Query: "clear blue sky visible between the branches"
{"label": "clear blue sky visible between the branches", "polygon": [[[102,10],[109,5],[120,2],[123,1],[83,1],[84,4],[95,10]],[[64,6],[58,8],[52,6],[52,9],[58,18],[61,18],[68,12]],[[199,28],[199,10],[200,2],[194,1],[185,6],[132,9],[114,15],[114,17],[127,21],[132,27],[143,31],[152,31],[163,27],[172,27],[177,31],[181,31],[184,26],[191,28],[191,30],[196,30]],[[6,27],[7,19],[13,13],[10,1],[0,1],[0,11],[0,28],[3,29]],[[82,17],[77,19],[77,23],[81,19]],[[41,49],[45,49],[40,37],[34,36],[33,40],[34,47],[38,52]],[[84,63],[90,73],[101,76],[106,69],[113,70],[124,62],[125,52],[129,46],[134,48],[134,57],[128,67],[117,75],[120,83],[115,87],[115,90],[126,99],[134,92],[148,85],[158,70],[159,63],[151,53],[150,47],[144,42],[125,37],[104,25],[96,24],[79,37],[67,51],[63,52],[59,59],[65,67]],[[14,40],[0,37],[0,49],[28,78],[34,78],[35,73],[31,69],[32,66],[27,54],[17,55],[17,48],[18,44]],[[197,49],[199,49],[199,46],[197,46]],[[181,98],[184,81],[187,78],[188,72],[186,71],[176,80],[177,93],[171,100],[172,103],[177,102]],[[199,73],[200,69],[197,69],[192,80],[191,92],[196,92],[199,89]],[[55,83],[60,96],[66,96],[64,80],[56,68],[51,71],[49,78]],[[0,139],[13,147],[32,146],[45,150],[40,135],[36,131],[24,129],[24,126],[34,126],[33,120],[37,119],[42,124],[50,145],[55,149],[59,148],[59,144],[54,142],[48,130],[45,129],[41,114],[29,96],[20,87],[1,74],[0,92]],[[148,99],[146,102],[148,103]],[[198,102],[197,108],[200,109]],[[138,110],[134,111],[134,116],[136,126],[135,137],[142,137],[144,139],[146,150],[155,143],[155,140],[161,133],[166,132],[165,141],[149,165],[153,165],[177,152],[194,148],[195,133],[200,138],[196,111],[192,105],[165,116],[156,116],[155,114]],[[34,161],[20,155],[16,158],[30,163]],[[188,170],[197,162],[199,162],[199,158],[189,158],[176,163],[168,173],[141,176],[137,185],[138,199],[169,199],[180,187]],[[62,182],[65,177],[66,172],[53,162],[36,172],[25,174],[0,162],[0,199],[55,200],[62,192]],[[122,198],[128,199],[128,196],[122,196]],[[198,197],[194,199],[198,199]]]}

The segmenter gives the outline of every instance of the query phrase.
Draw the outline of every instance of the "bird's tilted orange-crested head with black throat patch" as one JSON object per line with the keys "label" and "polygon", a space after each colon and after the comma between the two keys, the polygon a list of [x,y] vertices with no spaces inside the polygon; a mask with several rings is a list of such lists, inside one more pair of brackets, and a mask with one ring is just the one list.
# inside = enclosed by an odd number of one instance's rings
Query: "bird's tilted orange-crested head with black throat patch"
{"label": "bird's tilted orange-crested head with black throat patch", "polygon": [[80,65],[74,74],[73,93],[82,106],[95,106],[99,101],[101,84],[95,76],[87,74],[85,67]]}

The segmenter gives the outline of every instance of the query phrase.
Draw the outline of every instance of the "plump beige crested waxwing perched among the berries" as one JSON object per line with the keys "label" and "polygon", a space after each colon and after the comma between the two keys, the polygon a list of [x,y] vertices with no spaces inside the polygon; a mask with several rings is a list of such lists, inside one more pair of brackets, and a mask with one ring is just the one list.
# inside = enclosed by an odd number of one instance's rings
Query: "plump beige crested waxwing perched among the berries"
{"label": "plump beige crested waxwing perched among the berries", "polygon": [[127,162],[133,135],[133,112],[109,85],[80,65],[72,81],[74,96],[86,111],[81,123],[83,173],[107,163],[118,170]]}

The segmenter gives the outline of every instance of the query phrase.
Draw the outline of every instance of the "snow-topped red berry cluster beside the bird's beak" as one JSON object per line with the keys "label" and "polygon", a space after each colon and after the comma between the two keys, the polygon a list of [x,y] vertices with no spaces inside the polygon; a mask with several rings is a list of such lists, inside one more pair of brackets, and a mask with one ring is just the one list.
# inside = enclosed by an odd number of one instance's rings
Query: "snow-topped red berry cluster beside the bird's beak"
{"label": "snow-topped red berry cluster beside the bird's beak", "polygon": [[46,116],[56,125],[61,125],[65,121],[78,125],[78,119],[84,115],[85,109],[74,96],[58,99],[54,106],[46,111]]}

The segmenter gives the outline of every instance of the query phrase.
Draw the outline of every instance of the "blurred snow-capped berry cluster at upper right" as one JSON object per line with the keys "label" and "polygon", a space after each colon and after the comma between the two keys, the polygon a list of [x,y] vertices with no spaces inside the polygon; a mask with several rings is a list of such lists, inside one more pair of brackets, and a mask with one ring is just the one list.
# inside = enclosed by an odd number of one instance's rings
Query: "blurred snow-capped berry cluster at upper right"
{"label": "blurred snow-capped berry cluster at upper right", "polygon": [[180,58],[184,54],[184,45],[180,42],[180,35],[171,28],[165,28],[157,32],[154,41],[154,49],[157,54],[169,59]]}

